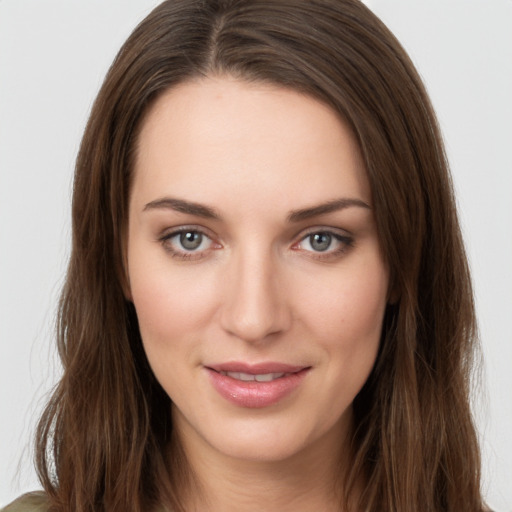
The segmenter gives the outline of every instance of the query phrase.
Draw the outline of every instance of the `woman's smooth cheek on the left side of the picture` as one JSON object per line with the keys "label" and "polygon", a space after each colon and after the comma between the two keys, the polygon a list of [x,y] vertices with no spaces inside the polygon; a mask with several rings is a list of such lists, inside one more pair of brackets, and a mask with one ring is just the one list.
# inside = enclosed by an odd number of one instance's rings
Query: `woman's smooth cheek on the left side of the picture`
{"label": "woman's smooth cheek on the left side of the picture", "polygon": [[173,400],[187,396],[204,326],[215,311],[214,287],[199,270],[177,270],[165,258],[148,264],[133,255],[130,263],[132,301],[149,365]]}

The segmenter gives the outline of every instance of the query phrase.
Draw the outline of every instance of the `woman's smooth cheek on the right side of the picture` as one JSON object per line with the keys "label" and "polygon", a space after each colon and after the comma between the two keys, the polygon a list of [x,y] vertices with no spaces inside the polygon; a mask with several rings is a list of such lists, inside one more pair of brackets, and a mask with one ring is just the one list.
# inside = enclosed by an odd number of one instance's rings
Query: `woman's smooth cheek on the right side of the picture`
{"label": "woman's smooth cheek on the right side of the picture", "polygon": [[366,382],[377,357],[387,300],[388,276],[370,259],[324,282],[303,310],[327,361],[326,396],[331,413],[345,410]]}

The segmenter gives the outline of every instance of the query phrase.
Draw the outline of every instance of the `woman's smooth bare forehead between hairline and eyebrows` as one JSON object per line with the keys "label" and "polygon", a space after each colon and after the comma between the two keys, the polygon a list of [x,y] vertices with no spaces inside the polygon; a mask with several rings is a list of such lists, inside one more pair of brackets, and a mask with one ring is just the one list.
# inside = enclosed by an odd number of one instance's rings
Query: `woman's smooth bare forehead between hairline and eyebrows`
{"label": "woman's smooth bare forehead between hairline and eyebrows", "polygon": [[226,187],[269,198],[278,190],[302,203],[345,193],[370,201],[358,144],[340,116],[296,91],[229,77],[181,84],[155,102],[133,187],[202,202]]}

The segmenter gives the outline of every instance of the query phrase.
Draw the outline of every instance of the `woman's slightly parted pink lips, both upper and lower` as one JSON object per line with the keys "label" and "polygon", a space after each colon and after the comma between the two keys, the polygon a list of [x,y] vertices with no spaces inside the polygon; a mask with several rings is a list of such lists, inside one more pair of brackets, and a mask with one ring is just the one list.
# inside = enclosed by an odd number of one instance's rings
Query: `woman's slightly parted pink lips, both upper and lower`
{"label": "woman's slightly parted pink lips, both upper and lower", "polygon": [[[238,407],[263,408],[274,405],[292,394],[302,383],[310,366],[296,366],[276,362],[247,364],[226,362],[205,366],[214,389],[228,402]],[[222,373],[221,373],[222,372]],[[242,381],[225,372],[249,375],[284,373],[268,382]]]}

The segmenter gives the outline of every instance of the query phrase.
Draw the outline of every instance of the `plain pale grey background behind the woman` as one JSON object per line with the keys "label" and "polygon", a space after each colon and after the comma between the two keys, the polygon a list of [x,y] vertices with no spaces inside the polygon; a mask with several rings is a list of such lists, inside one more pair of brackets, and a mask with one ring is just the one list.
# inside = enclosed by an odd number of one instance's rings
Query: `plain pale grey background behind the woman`
{"label": "plain pale grey background behind the woman", "polygon": [[[58,376],[73,162],[122,42],[157,0],[0,0],[0,506],[39,487],[30,440]],[[484,493],[512,511],[512,0],[368,0],[444,132],[485,359]],[[421,461],[418,461],[421,463]]]}

